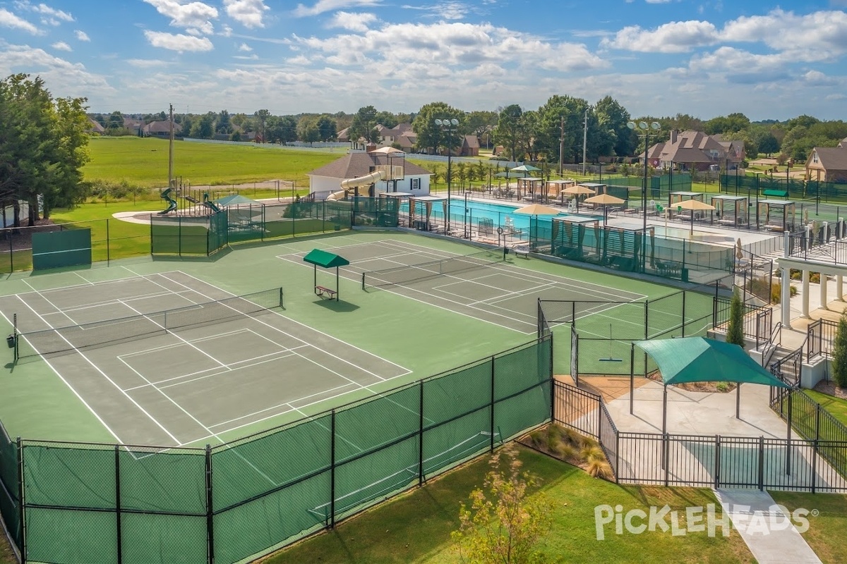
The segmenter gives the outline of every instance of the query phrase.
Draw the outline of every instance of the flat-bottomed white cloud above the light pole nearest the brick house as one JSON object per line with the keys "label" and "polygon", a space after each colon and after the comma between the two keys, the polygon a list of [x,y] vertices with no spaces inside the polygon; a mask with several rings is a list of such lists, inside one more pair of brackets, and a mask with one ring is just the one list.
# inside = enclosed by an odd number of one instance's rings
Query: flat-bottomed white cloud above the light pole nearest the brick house
{"label": "flat-bottomed white cloud above the light pole nearest the brick house", "polygon": [[717,39],[717,30],[710,22],[689,20],[663,24],[655,30],[644,30],[638,25],[630,25],[618,31],[613,38],[603,39],[601,47],[674,53],[712,45]]}

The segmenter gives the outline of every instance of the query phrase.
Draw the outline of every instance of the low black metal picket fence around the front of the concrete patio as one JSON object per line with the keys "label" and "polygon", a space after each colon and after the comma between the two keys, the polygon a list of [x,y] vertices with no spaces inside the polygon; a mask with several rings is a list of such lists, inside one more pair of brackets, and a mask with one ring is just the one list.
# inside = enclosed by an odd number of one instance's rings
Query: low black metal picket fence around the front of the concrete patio
{"label": "low black metal picket fence around the front of the concrete patio", "polygon": [[553,421],[595,437],[618,483],[847,490],[847,435],[836,430],[820,406],[817,415],[803,419],[817,422],[814,439],[662,435],[617,430],[601,396],[564,382],[554,383],[554,396]]}

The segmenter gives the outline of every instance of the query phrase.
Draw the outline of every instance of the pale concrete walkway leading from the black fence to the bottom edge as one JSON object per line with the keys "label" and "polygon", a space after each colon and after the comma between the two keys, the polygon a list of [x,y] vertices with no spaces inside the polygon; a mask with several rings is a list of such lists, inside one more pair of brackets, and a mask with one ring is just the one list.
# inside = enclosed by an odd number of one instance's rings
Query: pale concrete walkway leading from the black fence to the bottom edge
{"label": "pale concrete walkway leading from the black fence to the bottom edge", "polygon": [[759,564],[820,564],[795,523],[785,526],[791,516],[767,491],[715,490],[715,496]]}

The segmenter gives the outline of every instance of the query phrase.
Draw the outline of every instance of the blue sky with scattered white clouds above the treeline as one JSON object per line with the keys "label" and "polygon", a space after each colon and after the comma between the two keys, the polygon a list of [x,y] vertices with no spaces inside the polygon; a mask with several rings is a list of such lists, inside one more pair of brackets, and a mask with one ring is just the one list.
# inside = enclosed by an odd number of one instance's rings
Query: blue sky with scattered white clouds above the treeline
{"label": "blue sky with scattered white clouds above the treeline", "polygon": [[847,0],[0,0],[0,74],[91,111],[847,119]]}

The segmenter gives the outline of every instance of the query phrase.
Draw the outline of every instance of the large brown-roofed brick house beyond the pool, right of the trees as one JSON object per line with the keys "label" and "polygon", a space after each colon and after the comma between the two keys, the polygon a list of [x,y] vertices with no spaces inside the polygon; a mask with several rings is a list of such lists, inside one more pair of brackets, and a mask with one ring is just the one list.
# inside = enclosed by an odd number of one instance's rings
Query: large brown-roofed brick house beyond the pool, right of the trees
{"label": "large brown-roofed brick house beyond the pool, right of the trees", "polygon": [[[728,145],[725,145],[728,144]],[[644,153],[639,156],[644,159]],[[719,138],[700,131],[671,132],[670,140],[652,145],[647,152],[653,167],[677,170],[709,170],[710,168],[737,166],[743,160],[735,141],[722,142]]]}

